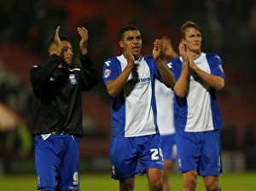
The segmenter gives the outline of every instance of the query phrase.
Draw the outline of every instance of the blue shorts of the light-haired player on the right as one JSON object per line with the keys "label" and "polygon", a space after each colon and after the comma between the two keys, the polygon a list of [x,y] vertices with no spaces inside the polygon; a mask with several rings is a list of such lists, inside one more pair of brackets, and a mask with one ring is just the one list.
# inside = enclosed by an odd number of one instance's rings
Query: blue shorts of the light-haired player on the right
{"label": "blue shorts of the light-haired player on the right", "polygon": [[177,130],[176,141],[179,171],[197,171],[200,176],[218,176],[222,173],[219,130]]}

